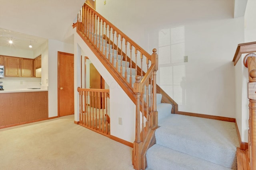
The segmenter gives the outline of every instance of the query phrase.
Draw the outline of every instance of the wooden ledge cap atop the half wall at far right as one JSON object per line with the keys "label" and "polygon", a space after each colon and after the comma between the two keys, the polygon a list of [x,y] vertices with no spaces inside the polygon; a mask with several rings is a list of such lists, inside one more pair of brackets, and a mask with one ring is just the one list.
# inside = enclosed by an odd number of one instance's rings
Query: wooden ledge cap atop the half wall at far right
{"label": "wooden ledge cap atop the half wall at far right", "polygon": [[236,65],[236,63],[238,62],[242,54],[254,53],[254,52],[256,52],[256,41],[250,42],[250,43],[238,44],[236,48],[236,53],[233,58],[234,66]]}

